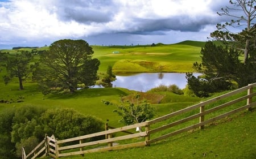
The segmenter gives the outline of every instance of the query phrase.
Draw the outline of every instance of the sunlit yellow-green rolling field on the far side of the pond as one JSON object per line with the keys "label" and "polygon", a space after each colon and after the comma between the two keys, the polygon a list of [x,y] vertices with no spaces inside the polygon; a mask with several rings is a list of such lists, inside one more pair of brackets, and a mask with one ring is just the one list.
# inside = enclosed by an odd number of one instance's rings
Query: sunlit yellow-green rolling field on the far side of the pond
{"label": "sunlit yellow-green rolling field on the far side of the pond", "polygon": [[[100,59],[100,72],[108,65],[116,74],[136,72],[193,72],[194,62],[201,61],[200,46],[170,44],[159,46],[92,46]],[[118,53],[113,53],[118,51]]]}

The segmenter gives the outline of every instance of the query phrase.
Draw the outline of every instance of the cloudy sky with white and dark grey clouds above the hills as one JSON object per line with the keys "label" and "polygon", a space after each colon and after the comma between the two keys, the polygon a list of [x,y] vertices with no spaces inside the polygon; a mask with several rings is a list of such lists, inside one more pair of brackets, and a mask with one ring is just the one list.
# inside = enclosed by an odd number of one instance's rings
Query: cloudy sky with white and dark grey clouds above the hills
{"label": "cloudy sky with white and dark grey clouds above the hills", "polygon": [[0,0],[0,44],[43,46],[206,41],[229,0]]}

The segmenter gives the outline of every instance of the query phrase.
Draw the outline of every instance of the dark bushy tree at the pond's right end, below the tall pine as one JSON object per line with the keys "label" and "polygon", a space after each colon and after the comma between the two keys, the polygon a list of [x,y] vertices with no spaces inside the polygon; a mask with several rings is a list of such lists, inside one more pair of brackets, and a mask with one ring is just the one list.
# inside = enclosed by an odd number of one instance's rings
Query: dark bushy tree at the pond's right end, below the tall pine
{"label": "dark bushy tree at the pond's right end, below the tall pine", "polygon": [[201,72],[203,78],[186,75],[188,87],[196,96],[205,97],[209,93],[230,89],[233,81],[238,85],[243,84],[240,72],[244,65],[239,59],[238,51],[208,41],[201,49],[201,54],[201,63],[195,62],[193,68],[196,72]]}

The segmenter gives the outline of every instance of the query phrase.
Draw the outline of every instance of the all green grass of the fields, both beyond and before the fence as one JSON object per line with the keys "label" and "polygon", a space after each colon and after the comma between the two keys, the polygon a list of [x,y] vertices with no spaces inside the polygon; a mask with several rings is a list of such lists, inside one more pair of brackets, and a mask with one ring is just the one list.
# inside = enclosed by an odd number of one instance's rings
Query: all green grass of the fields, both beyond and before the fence
{"label": "all green grass of the fields, both beyond and before the fence", "polygon": [[[200,50],[204,42],[184,41],[178,44],[156,46],[92,46],[94,58],[101,61],[98,72],[106,72],[109,65],[115,74],[138,72],[193,72],[192,64],[200,62]],[[47,48],[40,48],[47,49]],[[15,53],[14,50],[10,54]],[[114,54],[113,51],[119,51]],[[35,61],[39,55],[35,55]],[[5,74],[3,70],[0,77]],[[82,114],[92,114],[102,121],[109,121],[113,127],[123,126],[120,117],[113,112],[126,96],[139,92],[125,88],[81,89],[73,94],[43,95],[34,81],[27,80],[24,90],[19,91],[18,80],[5,85],[0,78],[0,111],[31,105],[42,108],[72,108]],[[155,118],[183,109],[205,98],[174,94],[172,92],[147,93],[147,98],[162,96],[156,108]],[[142,96],[142,97],[146,97]],[[23,102],[16,102],[22,99]],[[104,105],[101,100],[112,101]],[[11,102],[12,101],[12,102]],[[254,158],[256,156],[255,110],[234,115],[232,120],[224,120],[206,127],[203,131],[187,132],[170,139],[152,144],[150,147],[131,148],[121,151],[86,154],[85,157],[69,158]],[[239,132],[239,133],[238,133]],[[65,157],[68,158],[68,157]]]}

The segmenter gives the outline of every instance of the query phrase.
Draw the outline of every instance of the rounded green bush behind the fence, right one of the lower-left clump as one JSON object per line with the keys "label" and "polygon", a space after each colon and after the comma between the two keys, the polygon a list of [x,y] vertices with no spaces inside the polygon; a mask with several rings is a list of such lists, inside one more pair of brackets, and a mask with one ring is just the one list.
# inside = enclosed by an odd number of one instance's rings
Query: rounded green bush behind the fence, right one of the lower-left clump
{"label": "rounded green bush behind the fence, right one of the lower-left clump", "polygon": [[72,109],[49,109],[40,121],[46,134],[53,134],[60,140],[104,130],[104,122],[100,119]]}

